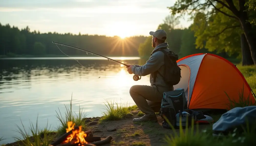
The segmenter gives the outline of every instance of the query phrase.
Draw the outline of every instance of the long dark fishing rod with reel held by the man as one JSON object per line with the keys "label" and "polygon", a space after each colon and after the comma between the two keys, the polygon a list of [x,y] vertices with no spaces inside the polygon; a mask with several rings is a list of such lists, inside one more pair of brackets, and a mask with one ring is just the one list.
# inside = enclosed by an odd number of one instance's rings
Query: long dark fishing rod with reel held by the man
{"label": "long dark fishing rod with reel held by the man", "polygon": [[[84,51],[84,52],[86,52],[87,55],[88,55],[88,52],[89,52],[89,53],[94,54],[94,55],[97,55],[97,56],[99,56],[99,57],[104,57],[104,58],[108,59],[108,62],[114,61],[115,63],[122,64],[122,65],[124,65],[124,66],[126,66],[126,67],[129,67],[129,66],[128,66],[127,64],[125,64],[125,63],[116,61],[116,60],[114,60],[114,59],[105,57],[105,56],[103,56],[103,55],[100,55],[100,54],[97,54],[97,53],[94,53],[94,52],[91,52],[91,51],[88,51],[88,50],[84,50],[84,49],[82,49],[82,48],[78,48],[78,47],[75,47],[75,46],[71,46],[71,45],[68,45],[68,44],[59,43],[59,42],[55,42],[55,41],[52,41],[52,43],[55,43],[56,45],[59,44],[59,45],[61,45],[61,46],[67,46],[67,47],[71,47],[71,48],[74,48],[74,49],[78,49],[78,50]],[[138,81],[138,80],[140,80],[140,79],[141,79],[141,76],[140,76],[140,77],[139,77],[138,75],[134,75],[134,76],[133,76],[133,80],[134,80],[134,81]]]}

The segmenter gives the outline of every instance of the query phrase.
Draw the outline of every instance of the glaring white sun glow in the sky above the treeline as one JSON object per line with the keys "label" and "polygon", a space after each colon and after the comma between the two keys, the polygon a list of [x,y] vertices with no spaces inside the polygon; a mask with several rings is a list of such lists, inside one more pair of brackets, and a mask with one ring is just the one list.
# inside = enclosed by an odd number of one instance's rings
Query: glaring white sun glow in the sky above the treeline
{"label": "glaring white sun glow in the sky above the treeline", "polygon": [[134,36],[136,26],[130,22],[111,22],[106,25],[108,36],[119,36],[120,39]]}

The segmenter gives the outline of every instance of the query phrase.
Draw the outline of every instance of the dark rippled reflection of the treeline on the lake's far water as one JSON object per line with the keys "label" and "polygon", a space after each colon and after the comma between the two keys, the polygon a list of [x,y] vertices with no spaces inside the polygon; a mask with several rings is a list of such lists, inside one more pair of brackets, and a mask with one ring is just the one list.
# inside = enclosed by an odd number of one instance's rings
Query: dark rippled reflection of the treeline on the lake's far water
{"label": "dark rippled reflection of the treeline on the lake's far water", "polygon": [[[0,62],[2,64],[0,67],[0,93],[12,92],[3,91],[3,89],[8,88],[31,88],[31,81],[58,82],[61,80],[72,80],[77,76],[88,79],[106,77],[109,72],[118,72],[120,70],[119,66],[124,67],[124,65],[114,62],[108,63],[105,60],[79,60],[79,63],[86,69],[74,60],[16,59],[0,60]],[[138,60],[122,61],[122,63],[138,64]],[[17,88],[18,84],[22,84],[22,87]]]}

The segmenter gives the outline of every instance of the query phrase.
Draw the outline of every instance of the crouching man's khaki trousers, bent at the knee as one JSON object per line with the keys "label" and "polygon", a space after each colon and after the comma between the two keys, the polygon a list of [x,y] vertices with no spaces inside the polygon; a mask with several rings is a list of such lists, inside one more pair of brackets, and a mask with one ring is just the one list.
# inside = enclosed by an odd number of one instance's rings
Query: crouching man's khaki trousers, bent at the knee
{"label": "crouching man's khaki trousers, bent at the knee", "polygon": [[138,108],[146,115],[154,115],[161,108],[163,93],[173,88],[163,88],[147,85],[134,85],[130,88],[130,95]]}

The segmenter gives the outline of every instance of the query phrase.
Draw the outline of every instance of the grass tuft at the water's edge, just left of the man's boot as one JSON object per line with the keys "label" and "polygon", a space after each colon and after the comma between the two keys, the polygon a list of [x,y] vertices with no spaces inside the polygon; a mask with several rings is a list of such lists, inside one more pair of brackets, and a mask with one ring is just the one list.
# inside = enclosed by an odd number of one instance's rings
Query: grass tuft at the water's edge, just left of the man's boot
{"label": "grass tuft at the water's edge, just left of the man's boot", "polygon": [[[120,120],[129,114],[130,111],[135,110],[137,106],[128,106],[128,105],[118,105],[116,102],[108,102],[106,100],[106,111],[103,112],[103,116],[100,119],[100,122],[106,120]],[[115,103],[115,104],[114,104]],[[116,106],[115,106],[116,105]]]}

